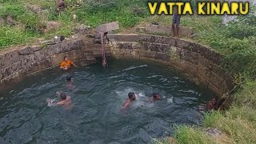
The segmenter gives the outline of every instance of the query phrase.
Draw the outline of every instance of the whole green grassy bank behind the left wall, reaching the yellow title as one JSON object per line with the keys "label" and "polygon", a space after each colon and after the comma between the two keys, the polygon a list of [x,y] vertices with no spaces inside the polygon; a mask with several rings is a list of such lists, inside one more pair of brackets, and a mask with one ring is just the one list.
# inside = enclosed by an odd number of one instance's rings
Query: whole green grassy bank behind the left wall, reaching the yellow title
{"label": "whole green grassy bank behind the left wall, reaching the yellow title", "polygon": [[[143,18],[150,16],[146,13],[146,2],[140,0],[85,0],[79,6],[77,2],[67,0],[69,9],[58,16],[55,9],[55,1],[39,0],[0,0],[3,4],[0,9],[0,17],[11,16],[16,22],[15,26],[0,26],[0,50],[9,46],[16,46],[33,42],[36,38],[53,38],[55,35],[70,36],[74,27],[84,24],[95,28],[102,23],[118,21],[121,29],[135,26]],[[43,14],[37,14],[28,7],[38,6],[45,10]],[[74,21],[73,15],[78,19]],[[46,22],[58,22],[57,30],[44,34]],[[22,40],[23,38],[23,40]],[[26,39],[26,40],[24,40]]]}

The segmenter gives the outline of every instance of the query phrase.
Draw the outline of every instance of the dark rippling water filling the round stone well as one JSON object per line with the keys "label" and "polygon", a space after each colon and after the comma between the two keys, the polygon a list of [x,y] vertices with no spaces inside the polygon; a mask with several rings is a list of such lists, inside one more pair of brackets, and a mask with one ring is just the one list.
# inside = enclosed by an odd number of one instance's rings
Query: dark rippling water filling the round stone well
{"label": "dark rippling water filling the round stone well", "polygon": [[[202,121],[197,106],[214,94],[157,62],[111,59],[70,70],[46,70],[1,91],[0,143],[148,143],[173,134],[174,124]],[[70,94],[74,107],[47,106],[56,91]],[[127,94],[137,100],[120,112]],[[150,102],[158,92],[162,99]]]}

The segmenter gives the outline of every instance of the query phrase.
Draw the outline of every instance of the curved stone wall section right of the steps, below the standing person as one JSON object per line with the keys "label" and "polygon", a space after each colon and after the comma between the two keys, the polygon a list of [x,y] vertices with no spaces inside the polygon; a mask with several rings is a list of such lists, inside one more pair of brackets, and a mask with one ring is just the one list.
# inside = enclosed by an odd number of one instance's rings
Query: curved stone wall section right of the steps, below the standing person
{"label": "curved stone wall section right of the steps, below the standing person", "polygon": [[220,66],[222,55],[206,46],[177,38],[150,34],[110,34],[117,57],[151,58],[182,70],[189,78],[221,96],[233,89],[229,74]]}

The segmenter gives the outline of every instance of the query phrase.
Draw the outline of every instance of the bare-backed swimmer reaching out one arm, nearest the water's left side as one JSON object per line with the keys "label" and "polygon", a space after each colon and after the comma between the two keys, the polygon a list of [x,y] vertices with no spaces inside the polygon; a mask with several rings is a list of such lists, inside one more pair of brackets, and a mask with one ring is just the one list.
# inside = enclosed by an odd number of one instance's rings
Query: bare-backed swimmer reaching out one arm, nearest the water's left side
{"label": "bare-backed swimmer reaching out one arm, nearest the water's left side", "polygon": [[[69,95],[67,95],[66,93],[62,93],[60,94],[60,98],[61,100],[59,102],[53,103],[52,106],[63,106],[66,110],[72,109],[73,104]],[[51,102],[51,99],[47,98],[46,102]]]}

